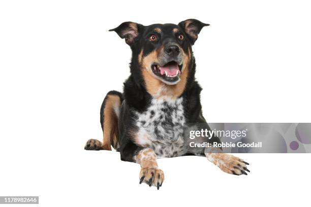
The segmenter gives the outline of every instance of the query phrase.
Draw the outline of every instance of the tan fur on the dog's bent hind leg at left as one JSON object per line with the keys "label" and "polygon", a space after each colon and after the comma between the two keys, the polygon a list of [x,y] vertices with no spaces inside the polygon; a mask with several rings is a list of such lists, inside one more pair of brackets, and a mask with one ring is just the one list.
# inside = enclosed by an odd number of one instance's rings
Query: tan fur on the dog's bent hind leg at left
{"label": "tan fur on the dog's bent hind leg at left", "polygon": [[111,144],[116,149],[119,148],[118,119],[114,109],[120,108],[120,105],[120,98],[117,95],[107,95],[106,105],[104,109],[104,138],[102,147],[103,150],[111,150]]}

